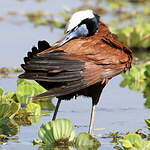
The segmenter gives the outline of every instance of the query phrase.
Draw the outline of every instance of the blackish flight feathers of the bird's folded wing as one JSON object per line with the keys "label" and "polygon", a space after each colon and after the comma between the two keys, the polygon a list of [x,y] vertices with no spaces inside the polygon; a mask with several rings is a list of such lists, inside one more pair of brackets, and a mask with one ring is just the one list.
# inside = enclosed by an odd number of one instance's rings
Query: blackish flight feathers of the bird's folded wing
{"label": "blackish flight feathers of the bird's folded wing", "polygon": [[[84,70],[86,70],[85,64],[86,62],[79,56],[53,50],[42,55],[28,56],[25,64],[22,64],[25,73],[19,77],[36,80],[41,84],[42,82],[48,84],[49,90],[36,96],[36,98],[63,96],[93,84],[88,83],[87,75],[84,76],[83,74]],[[91,75],[89,74],[89,77],[92,78]],[[95,77],[93,81],[95,81]]]}

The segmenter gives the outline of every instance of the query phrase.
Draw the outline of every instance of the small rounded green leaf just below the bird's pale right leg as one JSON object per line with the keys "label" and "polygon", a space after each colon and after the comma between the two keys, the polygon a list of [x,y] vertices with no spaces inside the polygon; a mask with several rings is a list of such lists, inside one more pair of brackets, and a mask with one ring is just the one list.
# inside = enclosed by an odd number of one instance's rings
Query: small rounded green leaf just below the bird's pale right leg
{"label": "small rounded green leaf just below the bird's pale right leg", "polygon": [[75,146],[76,147],[99,147],[101,144],[100,142],[92,137],[90,134],[88,133],[80,133],[77,138],[75,139]]}

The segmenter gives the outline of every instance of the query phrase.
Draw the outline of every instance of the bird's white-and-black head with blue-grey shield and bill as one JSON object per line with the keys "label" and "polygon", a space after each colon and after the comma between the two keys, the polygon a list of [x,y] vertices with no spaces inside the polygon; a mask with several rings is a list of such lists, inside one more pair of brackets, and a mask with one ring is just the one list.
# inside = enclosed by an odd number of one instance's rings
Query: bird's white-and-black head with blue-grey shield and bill
{"label": "bird's white-and-black head with blue-grey shield and bill", "polygon": [[68,22],[65,37],[55,43],[59,47],[75,38],[84,38],[94,35],[100,24],[100,16],[92,10],[82,10],[74,13]]}

